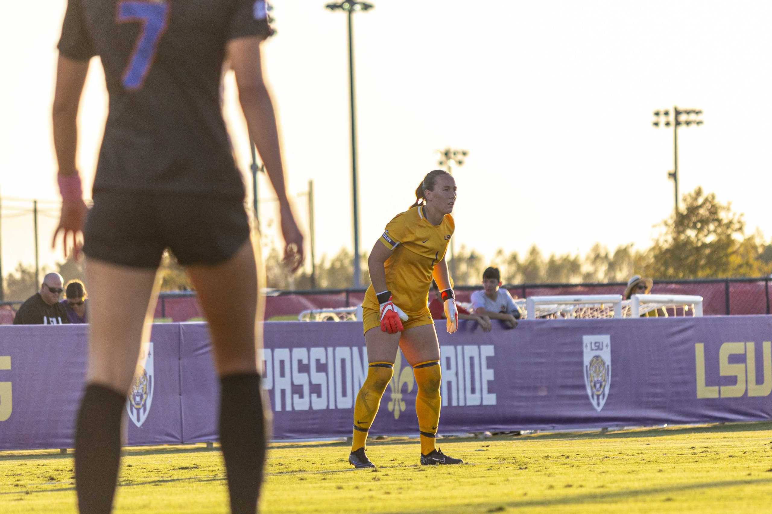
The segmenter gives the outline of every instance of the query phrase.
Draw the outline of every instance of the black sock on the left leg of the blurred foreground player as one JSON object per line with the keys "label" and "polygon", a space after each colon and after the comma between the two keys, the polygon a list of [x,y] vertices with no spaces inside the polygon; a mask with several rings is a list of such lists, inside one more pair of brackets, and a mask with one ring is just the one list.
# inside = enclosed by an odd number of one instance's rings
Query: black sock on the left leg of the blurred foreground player
{"label": "black sock on the left leg of the blurred foreground player", "polygon": [[82,514],[109,513],[120,465],[120,419],[126,396],[86,386],[75,428],[75,488]]}

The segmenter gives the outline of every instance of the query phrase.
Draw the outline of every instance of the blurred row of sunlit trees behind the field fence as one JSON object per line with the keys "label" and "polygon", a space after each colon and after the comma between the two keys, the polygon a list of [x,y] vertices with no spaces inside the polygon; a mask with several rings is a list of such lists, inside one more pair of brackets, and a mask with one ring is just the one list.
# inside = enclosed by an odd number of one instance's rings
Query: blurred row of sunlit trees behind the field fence
{"label": "blurred row of sunlit trees behind the field fence", "polygon": [[[679,213],[659,223],[659,235],[647,249],[632,244],[609,250],[594,244],[586,254],[544,255],[537,245],[526,254],[499,249],[488,260],[474,249],[461,246],[455,254],[453,280],[459,285],[479,284],[482,270],[496,266],[505,284],[604,283],[624,282],[633,274],[655,280],[723,277],[761,277],[772,274],[772,241],[766,242],[759,230],[746,233],[743,215],[734,213],[730,203],[720,203],[715,193],[697,188],[683,197]],[[369,284],[367,254],[361,254],[361,284]],[[332,257],[324,255],[316,273],[299,270],[290,274],[281,262],[278,248],[264,255],[266,285],[276,289],[350,287],[352,255],[341,249]],[[83,264],[71,258],[56,264],[55,271],[65,281],[83,280]],[[45,274],[49,269],[41,272]],[[21,301],[39,287],[35,268],[22,263],[4,277],[6,300]],[[87,284],[86,284],[87,287]],[[161,263],[161,291],[192,289],[185,270],[174,256],[164,254]]]}

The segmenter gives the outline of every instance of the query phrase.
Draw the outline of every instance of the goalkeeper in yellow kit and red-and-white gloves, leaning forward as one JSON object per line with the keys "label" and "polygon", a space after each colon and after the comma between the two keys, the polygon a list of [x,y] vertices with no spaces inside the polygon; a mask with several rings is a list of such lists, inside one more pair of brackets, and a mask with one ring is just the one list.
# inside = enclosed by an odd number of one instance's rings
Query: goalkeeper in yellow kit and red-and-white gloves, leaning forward
{"label": "goalkeeper in yellow kit and red-and-white gloves, leaning forward", "polygon": [[368,259],[370,280],[362,302],[367,378],[354,403],[354,438],[348,462],[356,468],[374,468],[364,445],[394,372],[402,349],[413,367],[418,395],[415,413],[421,437],[421,464],[462,464],[435,447],[441,372],[439,343],[428,310],[429,285],[434,278],[442,294],[447,330],[458,328],[459,314],[445,263],[445,250],[455,224],[450,213],[455,203],[455,180],[443,170],[429,172],[415,190],[410,210],[386,226]]}

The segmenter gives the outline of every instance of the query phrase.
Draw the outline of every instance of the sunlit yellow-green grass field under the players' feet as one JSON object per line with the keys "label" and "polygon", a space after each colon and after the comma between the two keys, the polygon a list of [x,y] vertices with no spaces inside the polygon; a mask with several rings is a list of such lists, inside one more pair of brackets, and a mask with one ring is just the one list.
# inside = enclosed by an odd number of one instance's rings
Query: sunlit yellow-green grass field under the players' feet
{"label": "sunlit yellow-green grass field under the players' feet", "polygon": [[[415,439],[271,445],[261,512],[772,512],[772,423],[445,438],[457,466],[418,465]],[[219,452],[128,448],[115,512],[226,512]],[[72,454],[0,452],[0,512],[76,512]]]}

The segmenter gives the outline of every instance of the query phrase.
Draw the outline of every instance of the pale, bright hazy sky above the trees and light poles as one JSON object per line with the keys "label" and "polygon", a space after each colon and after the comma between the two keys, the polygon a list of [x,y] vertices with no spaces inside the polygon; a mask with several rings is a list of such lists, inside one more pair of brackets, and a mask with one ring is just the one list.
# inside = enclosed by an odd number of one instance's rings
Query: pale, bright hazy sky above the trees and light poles
{"label": "pale, bright hazy sky above the trees and light poles", "polygon": [[[646,248],[673,209],[672,128],[655,109],[702,109],[679,129],[679,189],[702,186],[772,237],[772,2],[373,0],[354,16],[361,250],[415,200],[436,150],[466,149],[455,247],[493,257],[584,254],[599,242]],[[353,247],[346,16],[277,0],[264,66],[283,136],[288,189],[307,227],[313,180],[317,261]],[[58,219],[50,107],[65,0],[12,2],[0,30],[2,266],[34,262],[29,201],[40,200],[40,263]],[[10,11],[10,12],[8,12]],[[10,20],[27,20],[12,23]],[[34,20],[31,29],[29,20]],[[232,76],[225,119],[251,191],[249,141]],[[78,163],[90,190],[107,115],[93,59]],[[259,178],[261,226],[276,203]]]}

